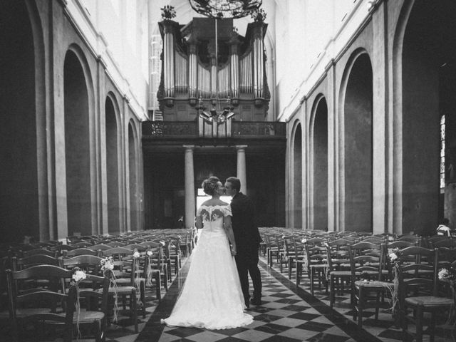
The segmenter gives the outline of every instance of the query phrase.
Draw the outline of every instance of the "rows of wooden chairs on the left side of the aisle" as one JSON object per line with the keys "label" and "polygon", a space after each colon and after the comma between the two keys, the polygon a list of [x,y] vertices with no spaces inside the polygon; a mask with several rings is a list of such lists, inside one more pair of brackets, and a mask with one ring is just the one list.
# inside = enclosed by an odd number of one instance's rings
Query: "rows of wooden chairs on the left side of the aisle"
{"label": "rows of wooden chairs on the left side of the aisle", "polygon": [[[76,322],[81,327],[88,323],[97,326],[93,332],[95,340],[102,341],[105,326],[116,312],[117,301],[119,307],[128,308],[138,332],[138,309],[145,317],[145,286],[155,286],[160,301],[160,289],[167,290],[172,264],[177,274],[182,266],[182,254],[190,254],[196,242],[192,240],[191,244],[182,246],[182,233],[176,233],[147,232],[135,234],[134,239],[132,235],[111,237],[110,242],[101,244],[100,239],[90,237],[74,244],[39,243],[33,248],[28,245],[9,248],[2,258],[2,273],[7,274],[9,317],[14,321],[16,341],[21,341],[20,332],[27,331],[24,324],[28,323],[36,323],[39,328],[48,324],[66,326],[63,336],[65,341],[71,341]],[[100,263],[107,257],[112,258],[114,266],[113,276],[108,278],[100,273]],[[77,269],[87,274],[87,279],[78,284],[78,291],[69,286]],[[58,282],[57,278],[60,278]],[[80,308],[76,311],[75,296]],[[33,303],[40,307],[33,308]],[[48,305],[50,308],[45,309]]]}

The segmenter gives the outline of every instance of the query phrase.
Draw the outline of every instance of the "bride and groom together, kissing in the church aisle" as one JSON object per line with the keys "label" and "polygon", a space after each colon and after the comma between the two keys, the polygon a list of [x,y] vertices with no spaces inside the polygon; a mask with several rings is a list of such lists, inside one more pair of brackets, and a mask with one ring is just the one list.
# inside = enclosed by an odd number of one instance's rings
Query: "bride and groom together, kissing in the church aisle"
{"label": "bride and groom together, kissing in the church aisle", "polygon": [[[261,304],[261,238],[254,205],[240,192],[241,182],[236,177],[229,177],[224,185],[217,177],[209,177],[202,188],[212,196],[197,209],[196,226],[204,229],[172,314],[162,323],[207,329],[245,326],[253,317],[244,309],[250,303]],[[231,204],[223,202],[221,195],[231,196]],[[254,284],[252,299],[248,274]]]}

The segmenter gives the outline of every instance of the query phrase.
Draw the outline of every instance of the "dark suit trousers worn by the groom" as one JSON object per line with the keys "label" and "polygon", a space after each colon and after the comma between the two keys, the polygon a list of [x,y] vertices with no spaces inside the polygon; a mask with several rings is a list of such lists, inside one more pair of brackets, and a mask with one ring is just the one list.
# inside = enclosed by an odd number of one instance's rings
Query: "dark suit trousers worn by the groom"
{"label": "dark suit trousers worn by the groom", "polygon": [[242,294],[244,300],[249,302],[249,274],[254,286],[254,299],[261,299],[261,274],[258,268],[259,247],[249,251],[238,251],[236,255],[236,266],[241,281]]}

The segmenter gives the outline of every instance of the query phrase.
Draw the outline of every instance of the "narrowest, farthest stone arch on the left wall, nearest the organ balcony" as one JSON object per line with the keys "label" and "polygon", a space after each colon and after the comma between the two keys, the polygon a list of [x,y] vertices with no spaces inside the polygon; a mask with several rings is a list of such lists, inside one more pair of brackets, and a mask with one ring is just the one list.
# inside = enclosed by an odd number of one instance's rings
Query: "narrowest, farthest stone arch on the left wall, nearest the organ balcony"
{"label": "narrowest, farthest stone arch on the left wall, nearest the organ balcony", "polygon": [[130,193],[130,230],[140,230],[138,130],[135,121],[128,123],[128,189]]}

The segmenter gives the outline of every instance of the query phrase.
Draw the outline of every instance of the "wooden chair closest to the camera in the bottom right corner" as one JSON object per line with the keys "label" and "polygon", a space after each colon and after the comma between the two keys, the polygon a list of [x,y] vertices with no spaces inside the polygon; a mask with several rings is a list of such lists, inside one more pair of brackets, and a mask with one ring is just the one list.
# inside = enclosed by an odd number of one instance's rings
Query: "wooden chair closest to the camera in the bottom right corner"
{"label": "wooden chair closest to the camera in the bottom right corner", "polygon": [[[435,321],[438,314],[443,314],[446,321],[447,314],[455,305],[452,298],[438,296],[438,251],[423,247],[408,247],[400,251],[400,258],[408,255],[415,256],[414,264],[398,262],[399,307],[403,338],[414,334],[408,331],[408,322],[416,326],[415,338],[423,341],[423,326],[428,323],[427,332],[433,341],[435,335]],[[425,262],[420,262],[425,261]],[[413,311],[410,314],[409,310]],[[430,320],[424,319],[424,313],[430,313]]]}

